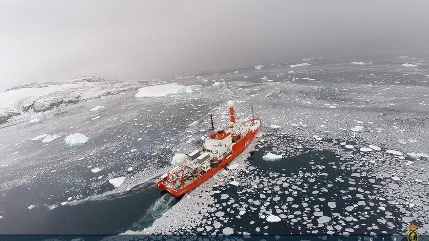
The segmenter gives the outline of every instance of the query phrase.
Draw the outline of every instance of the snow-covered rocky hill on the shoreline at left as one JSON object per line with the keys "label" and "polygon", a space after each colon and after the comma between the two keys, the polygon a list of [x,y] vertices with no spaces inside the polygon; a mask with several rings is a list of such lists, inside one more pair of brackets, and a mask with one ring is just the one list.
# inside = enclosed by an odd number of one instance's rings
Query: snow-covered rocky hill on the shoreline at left
{"label": "snow-covered rocky hill on the shoreline at left", "polygon": [[0,93],[0,124],[14,116],[48,111],[63,105],[134,91],[159,82],[157,80],[122,82],[83,76],[65,81],[15,86]]}

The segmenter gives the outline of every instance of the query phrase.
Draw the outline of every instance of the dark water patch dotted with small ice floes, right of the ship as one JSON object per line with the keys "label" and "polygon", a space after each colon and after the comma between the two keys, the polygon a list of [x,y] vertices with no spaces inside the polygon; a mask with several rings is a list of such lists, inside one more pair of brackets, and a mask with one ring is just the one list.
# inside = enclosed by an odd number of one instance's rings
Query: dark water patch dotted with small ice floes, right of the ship
{"label": "dark water patch dotted with small ice floes, right of the ship", "polygon": [[[374,186],[365,176],[357,179],[351,176],[353,173],[351,168],[341,170],[333,168],[347,162],[340,160],[340,156],[335,153],[329,150],[304,149],[302,154],[297,156],[273,161],[263,160],[262,156],[271,149],[272,147],[268,146],[254,151],[248,159],[249,169],[255,167],[251,173],[254,173],[258,180],[266,180],[262,182],[262,186],[254,188],[255,184],[258,185],[261,182],[252,182],[244,187],[228,185],[226,188],[220,188],[219,193],[215,193],[215,198],[218,200],[221,199],[222,194],[227,193],[234,203],[249,205],[246,213],[239,219],[236,218],[237,212],[231,213],[228,209],[232,204],[219,209],[225,212],[223,218],[234,220],[230,226],[234,230],[254,235],[318,234],[325,231],[326,227],[319,226],[317,222],[319,217],[313,215],[315,211],[323,212],[323,215],[319,214],[320,216],[331,218],[325,225],[332,226],[336,233],[351,228],[347,230],[349,233],[369,235],[369,230],[372,229],[377,233],[384,231],[386,234],[392,234],[397,227],[401,226],[402,222],[395,219],[385,224],[377,221],[378,218],[384,217],[384,212],[381,212],[376,205],[377,200],[364,199],[362,196],[362,194],[370,195]],[[286,178],[286,181],[279,181],[280,178]],[[250,175],[249,179],[249,181],[255,181],[253,175]],[[247,188],[252,187],[251,191],[246,191]],[[260,194],[264,197],[261,198]],[[359,196],[362,198],[360,199]],[[273,201],[274,197],[279,197],[279,200]],[[287,201],[288,198],[293,200]],[[260,204],[253,204],[255,200]],[[264,200],[271,201],[265,203]],[[359,200],[365,203],[353,206]],[[375,204],[370,205],[371,202]],[[335,207],[331,208],[328,203],[335,203]],[[260,208],[263,206],[265,206],[263,210],[273,211],[273,215],[285,214],[288,217],[280,222],[267,222],[265,218],[260,217]],[[347,210],[349,206],[353,206],[351,211]],[[389,207],[389,211],[392,216],[401,215],[395,206]],[[268,215],[265,214],[265,216]],[[256,227],[260,231],[255,230]]]}

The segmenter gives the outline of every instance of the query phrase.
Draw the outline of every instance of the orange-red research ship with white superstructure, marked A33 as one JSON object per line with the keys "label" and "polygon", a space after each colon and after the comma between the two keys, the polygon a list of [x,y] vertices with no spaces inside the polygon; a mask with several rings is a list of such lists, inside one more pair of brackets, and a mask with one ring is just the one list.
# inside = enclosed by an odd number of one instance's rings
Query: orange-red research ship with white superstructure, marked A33
{"label": "orange-red research ship with white superstructure, marked A33", "polygon": [[207,181],[252,143],[261,127],[261,119],[254,118],[253,108],[251,119],[238,119],[234,101],[228,101],[228,106],[228,126],[215,129],[210,114],[212,130],[207,134],[203,147],[187,154],[182,165],[162,175],[156,182],[159,189],[180,197]]}

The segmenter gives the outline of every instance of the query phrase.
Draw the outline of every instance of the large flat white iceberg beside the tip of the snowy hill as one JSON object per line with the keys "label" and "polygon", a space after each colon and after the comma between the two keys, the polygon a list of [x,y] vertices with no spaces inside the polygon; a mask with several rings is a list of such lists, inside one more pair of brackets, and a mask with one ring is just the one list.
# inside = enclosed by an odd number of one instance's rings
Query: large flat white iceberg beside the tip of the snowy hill
{"label": "large flat white iceberg beside the tip of the snowy hill", "polygon": [[175,94],[193,93],[201,89],[201,85],[184,86],[177,83],[152,85],[138,90],[137,98],[156,98]]}

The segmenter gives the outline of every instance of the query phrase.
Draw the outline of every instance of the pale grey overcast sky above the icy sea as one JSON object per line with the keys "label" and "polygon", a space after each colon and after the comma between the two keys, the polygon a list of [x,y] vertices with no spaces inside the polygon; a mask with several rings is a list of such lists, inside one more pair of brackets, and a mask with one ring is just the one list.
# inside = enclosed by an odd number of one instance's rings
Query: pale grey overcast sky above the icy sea
{"label": "pale grey overcast sky above the icy sea", "polygon": [[428,53],[428,0],[1,0],[0,90]]}

